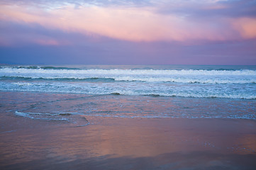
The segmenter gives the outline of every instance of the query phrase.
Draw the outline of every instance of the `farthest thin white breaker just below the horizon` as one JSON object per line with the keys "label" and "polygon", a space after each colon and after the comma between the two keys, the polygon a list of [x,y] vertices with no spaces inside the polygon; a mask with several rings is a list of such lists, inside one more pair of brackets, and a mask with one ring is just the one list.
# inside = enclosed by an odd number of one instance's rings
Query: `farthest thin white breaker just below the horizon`
{"label": "farthest thin white breaker just below the horizon", "polygon": [[112,75],[209,75],[209,76],[256,76],[256,70],[205,70],[205,69],[62,69],[62,67],[49,67],[49,69],[28,69],[2,67],[0,74],[112,74]]}

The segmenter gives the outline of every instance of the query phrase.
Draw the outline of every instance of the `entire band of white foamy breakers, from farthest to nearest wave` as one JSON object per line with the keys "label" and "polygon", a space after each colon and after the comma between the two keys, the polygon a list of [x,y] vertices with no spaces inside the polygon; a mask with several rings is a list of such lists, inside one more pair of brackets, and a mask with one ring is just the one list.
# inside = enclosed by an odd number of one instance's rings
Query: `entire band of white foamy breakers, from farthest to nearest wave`
{"label": "entire band of white foamy breakers, from farthest to nearest wave", "polygon": [[256,98],[256,70],[0,68],[1,91]]}

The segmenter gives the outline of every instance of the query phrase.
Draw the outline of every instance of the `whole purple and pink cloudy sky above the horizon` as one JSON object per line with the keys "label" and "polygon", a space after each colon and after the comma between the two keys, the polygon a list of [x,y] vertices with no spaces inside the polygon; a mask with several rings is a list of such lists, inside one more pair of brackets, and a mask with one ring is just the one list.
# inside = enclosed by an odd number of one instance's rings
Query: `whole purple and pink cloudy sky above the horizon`
{"label": "whole purple and pink cloudy sky above the horizon", "polygon": [[0,0],[0,64],[256,65],[256,1]]}

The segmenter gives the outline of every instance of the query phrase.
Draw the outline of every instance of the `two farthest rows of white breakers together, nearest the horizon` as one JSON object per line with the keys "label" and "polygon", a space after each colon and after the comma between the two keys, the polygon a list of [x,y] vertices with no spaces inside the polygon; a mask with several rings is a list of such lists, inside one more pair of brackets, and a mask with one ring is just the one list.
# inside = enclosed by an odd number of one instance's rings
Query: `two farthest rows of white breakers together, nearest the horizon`
{"label": "two farthest rows of white breakers together, nearest the horizon", "polygon": [[[61,67],[60,67],[61,68]],[[145,81],[185,84],[255,84],[256,70],[177,69],[0,69],[1,79],[56,81]]]}

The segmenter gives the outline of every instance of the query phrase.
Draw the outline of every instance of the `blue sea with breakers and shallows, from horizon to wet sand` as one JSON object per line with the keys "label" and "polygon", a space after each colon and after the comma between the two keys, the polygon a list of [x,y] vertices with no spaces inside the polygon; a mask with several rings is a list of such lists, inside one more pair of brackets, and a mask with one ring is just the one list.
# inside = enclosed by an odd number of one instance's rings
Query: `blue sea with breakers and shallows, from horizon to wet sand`
{"label": "blue sea with breakers and shallows, from horizon to wet sand", "polygon": [[[0,91],[52,94],[11,109],[41,120],[256,119],[256,66],[1,66]],[[16,102],[29,101],[22,98]]]}

